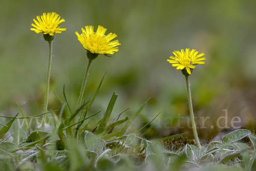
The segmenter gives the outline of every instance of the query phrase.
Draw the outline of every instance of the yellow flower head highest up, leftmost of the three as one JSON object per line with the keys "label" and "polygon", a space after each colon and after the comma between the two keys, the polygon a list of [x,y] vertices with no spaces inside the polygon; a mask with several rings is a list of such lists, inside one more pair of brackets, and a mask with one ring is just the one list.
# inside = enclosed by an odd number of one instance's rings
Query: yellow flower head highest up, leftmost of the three
{"label": "yellow flower head highest up, leftmost of the three", "polygon": [[36,17],[37,20],[33,19],[35,24],[31,24],[31,26],[35,28],[31,28],[32,31],[35,31],[36,33],[44,33],[49,34],[51,36],[54,35],[54,33],[61,33],[61,31],[65,31],[66,29],[58,27],[60,23],[64,22],[64,19],[61,19],[58,14],[55,12],[51,13],[44,13],[41,15],[41,18],[39,16]]}

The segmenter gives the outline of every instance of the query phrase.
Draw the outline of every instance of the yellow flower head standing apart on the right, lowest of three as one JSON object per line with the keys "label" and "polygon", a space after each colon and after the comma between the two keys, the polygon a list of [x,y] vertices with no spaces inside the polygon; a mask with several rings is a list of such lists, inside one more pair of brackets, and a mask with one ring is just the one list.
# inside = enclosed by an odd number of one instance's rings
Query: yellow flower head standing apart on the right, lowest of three
{"label": "yellow flower head standing apart on the right, lowest of three", "polygon": [[195,68],[193,64],[205,64],[205,62],[202,61],[205,60],[205,57],[201,58],[204,56],[204,53],[197,55],[198,51],[195,49],[186,49],[186,52],[181,49],[181,52],[174,51],[172,53],[175,55],[175,57],[170,56],[171,59],[167,59],[167,61],[172,63],[172,67],[177,67],[177,70],[183,70],[186,68],[189,75],[191,74],[190,68]]}

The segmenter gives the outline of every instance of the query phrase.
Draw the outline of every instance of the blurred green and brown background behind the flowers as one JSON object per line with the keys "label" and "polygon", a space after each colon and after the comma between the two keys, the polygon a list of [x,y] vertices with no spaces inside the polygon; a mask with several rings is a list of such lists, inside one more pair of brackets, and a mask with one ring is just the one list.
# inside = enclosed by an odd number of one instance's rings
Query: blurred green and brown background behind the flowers
{"label": "blurred green and brown background behind the flowers", "polygon": [[[56,12],[65,19],[56,34],[49,105],[60,110],[52,90],[67,99],[73,110],[87,65],[86,51],[75,32],[93,25],[116,33],[119,52],[93,61],[85,90],[91,99],[106,72],[102,88],[90,114],[107,108],[113,91],[119,95],[112,118],[130,107],[123,116],[131,117],[148,98],[154,96],[129,129],[149,122],[161,112],[147,138],[189,132],[179,129],[178,119],[189,117],[186,82],[166,60],[175,50],[190,48],[204,52],[205,65],[197,65],[190,76],[195,116],[209,116],[207,129],[198,129],[201,139],[212,139],[233,130],[230,121],[241,118],[236,127],[247,128],[249,116],[256,120],[256,1],[251,0],[1,0],[0,5],[0,113],[17,113],[16,101],[25,115],[42,113],[48,45],[42,34],[30,31],[37,15]],[[115,39],[115,40],[116,40]],[[228,110],[228,126],[217,128],[216,120]],[[104,112],[99,114],[103,116]],[[247,116],[245,115],[247,114]],[[170,123],[172,120],[173,123]],[[222,122],[223,121],[223,122]],[[0,119],[6,123],[5,119]],[[220,125],[224,125],[221,120]],[[170,125],[172,128],[169,128]],[[214,128],[210,128],[213,125]],[[145,130],[141,131],[143,133]]]}

